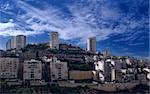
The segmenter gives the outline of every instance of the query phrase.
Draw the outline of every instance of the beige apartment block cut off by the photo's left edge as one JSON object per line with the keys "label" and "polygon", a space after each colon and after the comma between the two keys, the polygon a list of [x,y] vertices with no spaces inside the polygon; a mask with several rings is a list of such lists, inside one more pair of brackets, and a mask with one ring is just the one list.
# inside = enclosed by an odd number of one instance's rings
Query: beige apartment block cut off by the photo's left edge
{"label": "beige apartment block cut off by the photo's left edge", "polygon": [[18,74],[19,58],[0,57],[0,78],[16,79]]}

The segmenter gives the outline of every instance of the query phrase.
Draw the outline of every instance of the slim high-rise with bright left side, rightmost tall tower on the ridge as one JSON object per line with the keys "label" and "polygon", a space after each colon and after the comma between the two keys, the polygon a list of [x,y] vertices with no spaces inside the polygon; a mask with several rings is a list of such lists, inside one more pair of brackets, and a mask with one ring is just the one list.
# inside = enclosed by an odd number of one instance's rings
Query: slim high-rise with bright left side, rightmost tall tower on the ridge
{"label": "slim high-rise with bright left side, rightmost tall tower on the ridge", "polygon": [[96,37],[90,37],[87,40],[87,50],[96,53]]}

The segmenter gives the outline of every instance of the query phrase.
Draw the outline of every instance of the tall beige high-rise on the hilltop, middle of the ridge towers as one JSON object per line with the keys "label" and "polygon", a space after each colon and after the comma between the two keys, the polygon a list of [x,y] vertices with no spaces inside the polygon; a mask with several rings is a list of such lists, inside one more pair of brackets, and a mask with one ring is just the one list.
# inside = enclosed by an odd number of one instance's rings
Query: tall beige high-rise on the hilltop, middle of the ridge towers
{"label": "tall beige high-rise on the hilltop, middle of the ridge towers", "polygon": [[59,34],[58,32],[50,33],[50,48],[51,49],[59,49]]}

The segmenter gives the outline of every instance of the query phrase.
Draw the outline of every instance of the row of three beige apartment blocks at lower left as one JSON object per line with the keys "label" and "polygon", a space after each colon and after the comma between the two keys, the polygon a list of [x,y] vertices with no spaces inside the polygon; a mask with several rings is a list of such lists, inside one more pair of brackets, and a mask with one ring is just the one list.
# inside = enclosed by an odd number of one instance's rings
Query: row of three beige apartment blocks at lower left
{"label": "row of three beige apartment blocks at lower left", "polygon": [[17,56],[1,57],[0,78],[9,83],[15,81],[12,85],[45,85],[45,79],[48,79],[47,81],[68,80],[68,67],[67,62],[61,62],[55,57],[43,57],[42,60],[31,59],[24,62],[20,62]]}

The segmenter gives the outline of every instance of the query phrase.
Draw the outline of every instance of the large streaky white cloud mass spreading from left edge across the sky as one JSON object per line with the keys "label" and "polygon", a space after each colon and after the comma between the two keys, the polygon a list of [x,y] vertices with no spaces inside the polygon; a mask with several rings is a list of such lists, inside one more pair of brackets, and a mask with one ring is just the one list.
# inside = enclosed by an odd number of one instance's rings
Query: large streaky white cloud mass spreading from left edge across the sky
{"label": "large streaky white cloud mass spreading from left edge across the sky", "polygon": [[[20,0],[14,2],[25,14],[17,15],[18,22],[0,23],[0,35],[34,35],[58,31],[60,38],[64,40],[79,38],[81,43],[85,43],[88,37],[96,36],[98,41],[105,40],[111,34],[121,34],[128,28],[140,26],[141,22],[122,17],[120,10],[110,6],[106,0],[88,0],[89,6],[82,5],[84,0],[68,5],[71,17],[65,17],[60,9],[54,6],[45,5],[48,7],[39,9]],[[113,28],[113,23],[109,20],[119,21],[119,25]]]}

